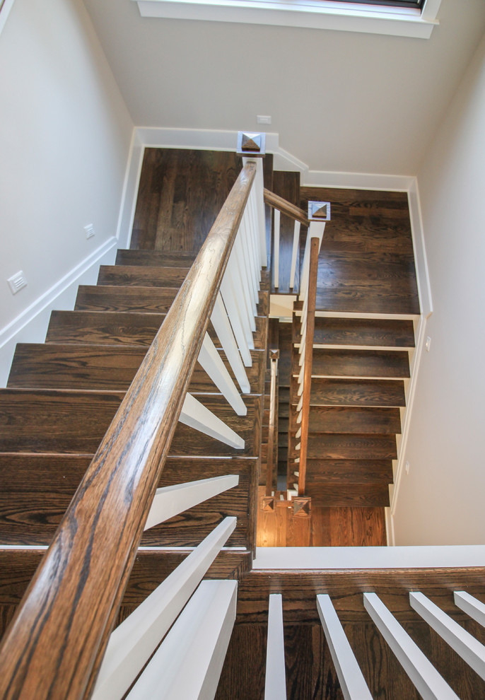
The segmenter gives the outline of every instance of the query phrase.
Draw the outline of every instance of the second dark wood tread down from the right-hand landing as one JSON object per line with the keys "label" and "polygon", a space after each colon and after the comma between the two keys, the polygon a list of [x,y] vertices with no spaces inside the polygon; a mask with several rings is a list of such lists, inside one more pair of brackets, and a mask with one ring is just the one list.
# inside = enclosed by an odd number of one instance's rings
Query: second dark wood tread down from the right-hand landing
{"label": "second dark wood tread down from the right-hand landing", "polygon": [[312,377],[408,378],[409,354],[385,350],[313,350]]}

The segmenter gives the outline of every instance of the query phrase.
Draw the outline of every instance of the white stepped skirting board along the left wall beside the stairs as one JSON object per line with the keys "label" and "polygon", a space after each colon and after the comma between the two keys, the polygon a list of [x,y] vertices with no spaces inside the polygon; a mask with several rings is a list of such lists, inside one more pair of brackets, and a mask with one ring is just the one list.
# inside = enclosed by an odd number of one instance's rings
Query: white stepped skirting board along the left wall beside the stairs
{"label": "white stepped skirting board along the left wall beside the stairs", "polygon": [[116,250],[112,236],[0,330],[0,386],[8,380],[16,344],[43,343],[51,311],[74,308],[78,285],[95,284],[100,264],[113,264]]}

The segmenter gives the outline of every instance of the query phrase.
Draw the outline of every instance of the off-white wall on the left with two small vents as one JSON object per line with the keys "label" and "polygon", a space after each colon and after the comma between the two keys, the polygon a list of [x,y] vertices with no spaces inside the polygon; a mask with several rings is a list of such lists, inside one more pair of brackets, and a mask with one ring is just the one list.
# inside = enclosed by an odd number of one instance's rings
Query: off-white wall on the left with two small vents
{"label": "off-white wall on the left with two small vents", "polygon": [[[0,65],[4,346],[53,285],[113,247],[133,123],[81,0],[16,0]],[[12,296],[6,279],[19,270],[28,286]]]}

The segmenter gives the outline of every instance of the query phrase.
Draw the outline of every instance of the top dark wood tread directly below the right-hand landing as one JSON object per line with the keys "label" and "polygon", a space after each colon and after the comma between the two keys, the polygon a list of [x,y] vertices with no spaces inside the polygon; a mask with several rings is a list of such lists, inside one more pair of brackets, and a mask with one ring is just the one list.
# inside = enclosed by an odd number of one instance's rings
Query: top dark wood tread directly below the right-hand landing
{"label": "top dark wood tread directly below the right-hand landing", "polygon": [[413,348],[413,322],[373,318],[315,318],[315,345]]}

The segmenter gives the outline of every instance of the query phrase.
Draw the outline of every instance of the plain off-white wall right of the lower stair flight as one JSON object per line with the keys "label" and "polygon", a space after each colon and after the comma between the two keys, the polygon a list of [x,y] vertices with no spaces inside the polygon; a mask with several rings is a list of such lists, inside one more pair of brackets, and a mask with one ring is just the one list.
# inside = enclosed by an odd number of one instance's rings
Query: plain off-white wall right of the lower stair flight
{"label": "plain off-white wall right of the lower stair flight", "polygon": [[396,544],[485,542],[485,38],[418,176],[433,295]]}

